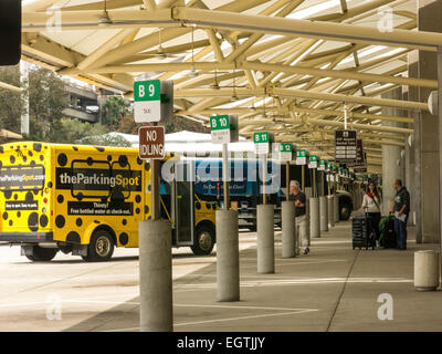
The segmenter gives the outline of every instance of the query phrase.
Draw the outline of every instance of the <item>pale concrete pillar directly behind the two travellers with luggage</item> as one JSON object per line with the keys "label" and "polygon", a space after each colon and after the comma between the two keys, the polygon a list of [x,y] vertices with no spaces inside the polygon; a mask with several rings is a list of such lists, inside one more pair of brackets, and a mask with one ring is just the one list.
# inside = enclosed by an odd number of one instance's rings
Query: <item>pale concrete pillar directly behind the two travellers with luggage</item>
{"label": "pale concrete pillar directly behind the two travellers with luggage", "polygon": [[[382,94],[382,98],[402,100],[402,88],[389,91]],[[402,110],[394,107],[382,107],[382,114],[400,116]],[[382,125],[402,127],[400,123],[382,121]],[[400,146],[382,145],[382,215],[388,215],[390,211],[390,205],[393,202],[396,190],[393,189],[393,180],[401,178],[402,166],[401,166],[401,150]]]}

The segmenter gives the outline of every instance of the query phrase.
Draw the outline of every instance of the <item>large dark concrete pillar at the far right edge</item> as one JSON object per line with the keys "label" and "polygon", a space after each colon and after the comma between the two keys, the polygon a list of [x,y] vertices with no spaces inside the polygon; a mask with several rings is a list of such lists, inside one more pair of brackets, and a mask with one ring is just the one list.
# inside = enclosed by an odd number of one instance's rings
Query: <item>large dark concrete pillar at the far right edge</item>
{"label": "large dark concrete pillar at the far right edge", "polygon": [[[442,32],[442,1],[418,0],[418,30]],[[438,79],[438,53],[412,51],[408,55],[409,75],[415,77]],[[409,98],[427,102],[433,88],[410,87]],[[415,198],[417,242],[439,242],[440,235],[440,198],[439,196],[439,117],[421,111],[414,114],[414,152],[415,152]]]}

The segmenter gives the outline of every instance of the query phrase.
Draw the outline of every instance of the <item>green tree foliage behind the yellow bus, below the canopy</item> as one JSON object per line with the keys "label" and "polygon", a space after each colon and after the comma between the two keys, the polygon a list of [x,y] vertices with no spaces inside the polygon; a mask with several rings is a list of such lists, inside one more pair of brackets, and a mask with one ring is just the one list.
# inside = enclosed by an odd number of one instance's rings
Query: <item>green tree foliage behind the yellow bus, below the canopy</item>
{"label": "green tree foliage behind the yellow bus, below the canopy", "polygon": [[[0,67],[0,81],[20,86],[20,66]],[[31,66],[28,86],[30,135],[24,139],[94,144],[106,146],[130,146],[108,132],[138,134],[143,124],[135,123],[133,105],[122,96],[109,96],[103,103],[102,125],[66,118],[63,110],[69,107],[65,82],[52,71]],[[20,133],[22,97],[18,92],[0,88],[0,128]],[[173,116],[161,124],[166,133],[191,131],[208,133],[209,129],[188,118]],[[0,142],[2,143],[2,142]]]}

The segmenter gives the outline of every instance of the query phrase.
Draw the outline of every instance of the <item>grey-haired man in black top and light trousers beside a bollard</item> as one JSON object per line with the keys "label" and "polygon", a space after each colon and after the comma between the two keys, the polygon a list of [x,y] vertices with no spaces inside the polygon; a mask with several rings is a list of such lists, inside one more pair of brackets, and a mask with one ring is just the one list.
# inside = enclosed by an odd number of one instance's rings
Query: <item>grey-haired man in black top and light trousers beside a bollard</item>
{"label": "grey-haired man in black top and light trousers beside a bollard", "polygon": [[297,180],[291,180],[290,184],[290,200],[295,201],[295,219],[296,219],[296,228],[298,230],[297,238],[299,240],[299,248],[303,250],[304,254],[309,252],[308,248],[308,230],[307,230],[307,216],[305,215],[305,204],[306,196],[301,191],[301,185]]}

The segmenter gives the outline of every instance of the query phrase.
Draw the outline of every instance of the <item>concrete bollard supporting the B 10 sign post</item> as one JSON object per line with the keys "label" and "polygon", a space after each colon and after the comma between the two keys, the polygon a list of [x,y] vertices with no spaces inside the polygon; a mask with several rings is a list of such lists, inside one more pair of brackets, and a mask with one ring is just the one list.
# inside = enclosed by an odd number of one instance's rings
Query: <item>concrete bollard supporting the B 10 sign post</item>
{"label": "concrete bollard supporting the B 10 sign post", "polygon": [[240,249],[235,210],[217,210],[217,300],[240,300]]}

